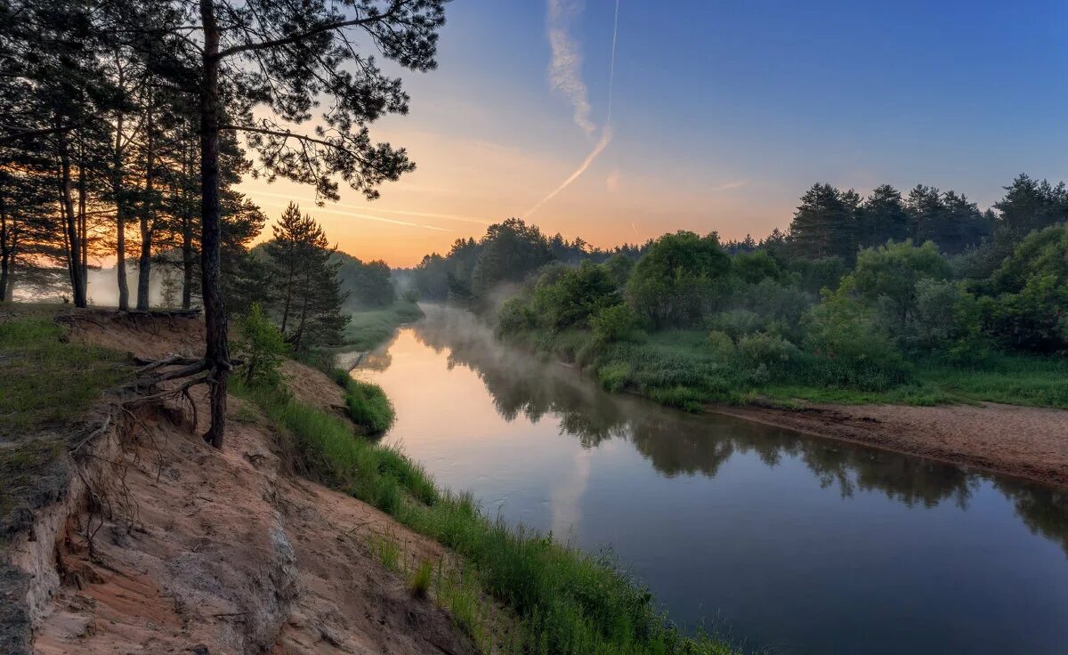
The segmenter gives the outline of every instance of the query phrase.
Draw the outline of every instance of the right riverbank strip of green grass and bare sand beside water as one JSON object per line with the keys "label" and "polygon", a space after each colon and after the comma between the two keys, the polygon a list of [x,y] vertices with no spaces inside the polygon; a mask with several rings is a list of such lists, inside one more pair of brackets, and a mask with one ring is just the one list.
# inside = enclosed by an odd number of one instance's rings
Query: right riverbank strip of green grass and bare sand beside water
{"label": "right riverbank strip of green grass and bare sand beside water", "polygon": [[505,339],[580,368],[609,391],[1068,486],[1068,370],[1053,358],[1004,356],[974,371],[929,365],[908,384],[859,390],[732,376],[700,331],[610,344],[584,330]]}

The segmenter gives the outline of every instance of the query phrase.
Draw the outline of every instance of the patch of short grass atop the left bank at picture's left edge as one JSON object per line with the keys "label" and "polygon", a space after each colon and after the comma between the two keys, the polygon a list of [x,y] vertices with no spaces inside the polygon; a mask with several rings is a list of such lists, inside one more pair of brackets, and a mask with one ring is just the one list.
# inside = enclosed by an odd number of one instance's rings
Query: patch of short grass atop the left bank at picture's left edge
{"label": "patch of short grass atop the left bank at picture's left edge", "polygon": [[69,421],[126,374],[122,355],[66,336],[47,316],[0,322],[0,437]]}

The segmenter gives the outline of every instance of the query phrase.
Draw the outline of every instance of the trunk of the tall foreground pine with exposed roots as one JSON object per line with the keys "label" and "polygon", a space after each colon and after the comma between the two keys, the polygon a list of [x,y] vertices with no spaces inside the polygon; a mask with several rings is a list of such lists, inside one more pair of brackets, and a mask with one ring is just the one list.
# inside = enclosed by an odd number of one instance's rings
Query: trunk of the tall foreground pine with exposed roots
{"label": "trunk of the tall foreground pine with exposed roots", "polygon": [[204,434],[204,440],[222,448],[226,427],[226,378],[231,363],[226,346],[226,313],[219,280],[219,27],[214,0],[200,0],[200,12],[204,28],[200,97],[201,284],[207,342],[204,359],[214,377],[209,387],[211,424]]}

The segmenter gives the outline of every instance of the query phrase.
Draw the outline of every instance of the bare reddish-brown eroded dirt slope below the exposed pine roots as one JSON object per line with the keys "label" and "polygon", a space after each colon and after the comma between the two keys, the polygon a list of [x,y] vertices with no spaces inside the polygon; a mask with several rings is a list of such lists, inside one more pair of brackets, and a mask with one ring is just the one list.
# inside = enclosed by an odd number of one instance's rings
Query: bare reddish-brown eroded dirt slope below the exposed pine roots
{"label": "bare reddish-brown eroded dirt slope below the exposed pine roots", "polygon": [[[73,338],[146,357],[195,353],[199,325],[176,321],[77,321]],[[305,400],[340,400],[326,376],[290,365]],[[395,536],[413,561],[441,558],[439,545],[287,474],[262,418],[236,420],[254,408],[231,399],[230,412],[222,452],[174,414],[144,421],[124,454],[124,492],[108,499],[113,516],[88,530],[72,524],[60,544],[63,584],[35,631],[37,653],[472,652],[443,611],[378,563],[366,536]]]}

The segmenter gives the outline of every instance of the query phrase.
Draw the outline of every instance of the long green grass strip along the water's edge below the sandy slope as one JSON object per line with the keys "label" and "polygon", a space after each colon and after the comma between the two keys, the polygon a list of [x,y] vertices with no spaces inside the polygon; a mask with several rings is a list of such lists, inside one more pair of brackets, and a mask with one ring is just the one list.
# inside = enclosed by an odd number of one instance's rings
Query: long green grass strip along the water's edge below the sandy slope
{"label": "long green grass strip along the water's edge below the sandy slope", "polygon": [[[610,558],[595,558],[551,535],[488,518],[470,496],[438,490],[419,465],[395,449],[356,436],[343,420],[295,400],[285,390],[240,383],[231,388],[255,402],[282,428],[307,475],[387,512],[447,546],[476,571],[481,589],[517,617],[507,652],[735,652],[723,642],[681,635],[649,593]],[[454,589],[452,596],[444,595],[459,612],[454,619],[467,625],[465,629],[477,631],[483,628],[478,627],[480,610],[472,607],[473,593]],[[477,634],[472,638],[477,640]]]}

